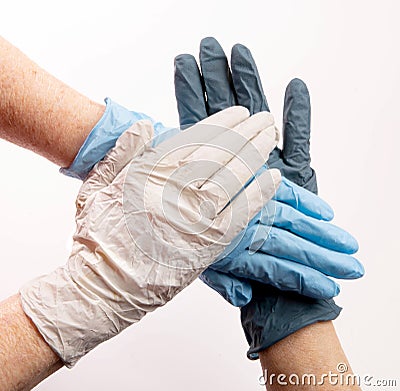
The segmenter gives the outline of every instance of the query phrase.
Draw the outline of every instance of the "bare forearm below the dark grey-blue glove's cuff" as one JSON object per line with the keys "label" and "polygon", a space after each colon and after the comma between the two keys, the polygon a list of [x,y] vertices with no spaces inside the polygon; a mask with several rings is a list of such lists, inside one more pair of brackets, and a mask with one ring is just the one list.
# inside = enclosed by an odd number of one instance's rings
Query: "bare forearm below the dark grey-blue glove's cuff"
{"label": "bare forearm below the dark grey-blue glove's cuff", "polygon": [[[360,387],[352,385],[351,377],[349,385],[346,384],[346,380],[342,384],[340,377],[336,378],[337,385],[332,384],[329,377],[323,377],[324,374],[329,376],[330,372],[339,374],[337,367],[340,363],[348,368],[343,373],[344,379],[352,374],[332,322],[317,322],[289,335],[260,352],[260,361],[268,391],[361,390]],[[282,376],[279,382],[280,374],[285,375],[285,378]],[[292,374],[292,382],[299,379],[299,384],[290,384]],[[309,376],[304,376],[305,381],[302,381],[303,375],[306,374],[315,375],[317,385],[313,385],[313,378],[308,380]],[[287,384],[279,384],[284,382]],[[318,385],[318,382],[323,384]],[[332,382],[335,382],[335,378]]]}

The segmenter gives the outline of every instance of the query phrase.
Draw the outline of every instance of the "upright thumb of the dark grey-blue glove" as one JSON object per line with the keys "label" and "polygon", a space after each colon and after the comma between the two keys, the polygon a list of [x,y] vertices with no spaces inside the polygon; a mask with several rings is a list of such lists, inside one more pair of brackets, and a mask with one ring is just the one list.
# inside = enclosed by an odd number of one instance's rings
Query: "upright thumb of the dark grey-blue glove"
{"label": "upright thumb of the dark grey-blue glove", "polygon": [[289,166],[308,170],[309,176],[312,174],[310,121],[311,104],[307,86],[302,80],[293,79],[286,88],[283,107],[282,158]]}

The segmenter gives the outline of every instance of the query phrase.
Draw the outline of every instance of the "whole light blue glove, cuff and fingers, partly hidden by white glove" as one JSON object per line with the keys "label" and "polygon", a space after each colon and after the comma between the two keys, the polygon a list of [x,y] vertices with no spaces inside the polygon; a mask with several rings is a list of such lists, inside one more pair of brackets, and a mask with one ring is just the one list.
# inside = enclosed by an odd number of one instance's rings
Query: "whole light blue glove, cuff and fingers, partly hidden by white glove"
{"label": "whole light blue glove, cuff and fingers, partly hidden by white glove", "polygon": [[[138,120],[153,123],[154,146],[179,132],[108,98],[106,104],[103,117],[72,165],[61,169],[62,173],[86,178],[118,137]],[[323,200],[284,178],[274,200],[252,220],[241,240],[234,241],[225,256],[203,273],[203,281],[213,289],[220,284],[228,301],[243,306],[251,299],[250,283],[243,278],[315,298],[330,298],[338,294],[339,286],[326,275],[358,278],[363,274],[361,264],[348,255],[357,251],[357,242],[326,222],[333,218],[333,211]]]}

